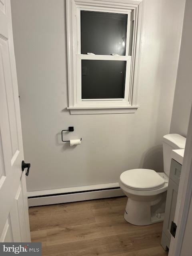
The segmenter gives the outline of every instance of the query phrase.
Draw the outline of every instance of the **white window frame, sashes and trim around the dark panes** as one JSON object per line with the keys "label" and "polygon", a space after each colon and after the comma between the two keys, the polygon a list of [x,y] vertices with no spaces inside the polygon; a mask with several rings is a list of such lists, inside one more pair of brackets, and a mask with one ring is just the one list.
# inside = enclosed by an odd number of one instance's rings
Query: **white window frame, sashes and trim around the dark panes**
{"label": "white window frame, sashes and trim around the dark panes", "polygon": [[[99,11],[128,15],[126,55],[81,54],[80,11]],[[138,75],[142,32],[143,0],[66,0],[68,94],[71,114],[134,113],[138,106]],[[133,32],[130,33],[130,23]],[[130,45],[130,34],[132,44]],[[81,60],[125,60],[126,84],[122,99],[82,99]]]}

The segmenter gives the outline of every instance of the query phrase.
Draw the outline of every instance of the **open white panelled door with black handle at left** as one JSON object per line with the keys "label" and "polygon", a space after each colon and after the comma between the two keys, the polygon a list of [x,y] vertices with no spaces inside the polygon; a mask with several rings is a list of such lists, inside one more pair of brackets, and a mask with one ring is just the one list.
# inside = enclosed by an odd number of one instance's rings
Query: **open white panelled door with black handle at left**
{"label": "open white panelled door with black handle at left", "polygon": [[0,242],[30,242],[10,0],[0,0]]}

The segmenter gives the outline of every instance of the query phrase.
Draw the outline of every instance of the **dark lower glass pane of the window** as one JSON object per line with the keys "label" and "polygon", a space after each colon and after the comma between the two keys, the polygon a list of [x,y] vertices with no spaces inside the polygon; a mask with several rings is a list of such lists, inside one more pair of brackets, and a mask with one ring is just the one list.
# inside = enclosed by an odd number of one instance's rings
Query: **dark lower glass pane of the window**
{"label": "dark lower glass pane of the window", "polygon": [[126,61],[82,60],[82,99],[124,98]]}

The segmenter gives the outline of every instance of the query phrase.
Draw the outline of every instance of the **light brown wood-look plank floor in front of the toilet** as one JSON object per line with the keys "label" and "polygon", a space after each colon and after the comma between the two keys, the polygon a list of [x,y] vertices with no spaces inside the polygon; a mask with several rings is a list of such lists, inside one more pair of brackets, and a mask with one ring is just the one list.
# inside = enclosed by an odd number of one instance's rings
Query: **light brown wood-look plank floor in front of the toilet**
{"label": "light brown wood-look plank floor in front of the toilet", "polygon": [[166,256],[162,223],[134,226],[123,218],[126,197],[29,209],[32,242],[42,255]]}

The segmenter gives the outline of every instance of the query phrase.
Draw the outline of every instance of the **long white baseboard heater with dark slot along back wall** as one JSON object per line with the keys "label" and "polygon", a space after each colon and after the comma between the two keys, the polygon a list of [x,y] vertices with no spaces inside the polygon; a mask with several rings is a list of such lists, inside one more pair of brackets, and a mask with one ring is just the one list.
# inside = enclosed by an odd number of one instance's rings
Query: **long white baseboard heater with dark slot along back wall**
{"label": "long white baseboard heater with dark slot along back wall", "polygon": [[118,183],[28,192],[28,206],[124,196]]}

